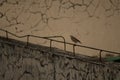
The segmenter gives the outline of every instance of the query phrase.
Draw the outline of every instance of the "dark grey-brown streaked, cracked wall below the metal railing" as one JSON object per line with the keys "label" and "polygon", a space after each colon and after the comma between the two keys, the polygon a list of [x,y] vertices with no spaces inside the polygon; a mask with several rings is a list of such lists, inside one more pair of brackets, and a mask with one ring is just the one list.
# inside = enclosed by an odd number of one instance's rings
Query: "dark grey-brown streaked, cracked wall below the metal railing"
{"label": "dark grey-brown streaked, cracked wall below the metal railing", "polygon": [[[55,53],[54,53],[55,52]],[[0,37],[0,80],[119,80],[120,68]]]}

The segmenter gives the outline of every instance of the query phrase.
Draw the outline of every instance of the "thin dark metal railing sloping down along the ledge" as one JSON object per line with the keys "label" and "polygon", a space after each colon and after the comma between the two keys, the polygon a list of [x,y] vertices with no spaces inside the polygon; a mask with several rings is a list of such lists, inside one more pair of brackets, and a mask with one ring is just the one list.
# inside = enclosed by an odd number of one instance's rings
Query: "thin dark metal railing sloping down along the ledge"
{"label": "thin dark metal railing sloping down along the ledge", "polygon": [[[83,46],[83,45],[77,45],[77,44],[73,44],[73,43],[68,43],[66,42],[65,38],[63,36],[49,36],[49,37],[40,37],[40,36],[35,36],[35,35],[25,35],[25,36],[17,36],[7,30],[3,30],[3,29],[0,29],[0,31],[3,31],[3,32],[6,32],[6,38],[9,38],[9,34],[15,36],[15,37],[18,37],[18,38],[24,38],[26,37],[27,38],[27,45],[29,44],[29,39],[30,37],[35,37],[35,38],[42,38],[42,39],[47,39],[50,41],[50,50],[52,48],[52,42],[58,42],[58,43],[63,43],[64,44],[64,51],[66,51],[66,45],[72,45],[73,46],[73,53],[75,55],[75,47],[78,46],[78,47],[83,47],[83,48],[87,48],[87,49],[92,49],[92,50],[97,50],[99,51],[99,59],[101,61],[102,59],[102,52],[108,52],[108,53],[112,53],[112,54],[118,54],[120,55],[119,52],[114,52],[114,51],[109,51],[109,50],[104,50],[104,49],[98,49],[98,48],[93,48],[93,47],[88,47],[88,46]],[[59,40],[55,40],[55,39],[52,39],[52,38],[62,38],[63,41],[59,41]]]}

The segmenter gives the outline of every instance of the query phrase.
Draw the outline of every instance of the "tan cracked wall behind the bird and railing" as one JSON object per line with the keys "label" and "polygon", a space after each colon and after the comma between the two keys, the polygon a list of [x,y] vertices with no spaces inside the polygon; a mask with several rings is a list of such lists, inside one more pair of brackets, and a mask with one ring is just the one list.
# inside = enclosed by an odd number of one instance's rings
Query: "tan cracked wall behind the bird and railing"
{"label": "tan cracked wall behind the bird and railing", "polygon": [[72,34],[83,45],[120,51],[119,21],[120,0],[0,0],[0,28],[17,35],[62,35],[71,42]]}

